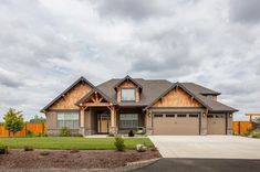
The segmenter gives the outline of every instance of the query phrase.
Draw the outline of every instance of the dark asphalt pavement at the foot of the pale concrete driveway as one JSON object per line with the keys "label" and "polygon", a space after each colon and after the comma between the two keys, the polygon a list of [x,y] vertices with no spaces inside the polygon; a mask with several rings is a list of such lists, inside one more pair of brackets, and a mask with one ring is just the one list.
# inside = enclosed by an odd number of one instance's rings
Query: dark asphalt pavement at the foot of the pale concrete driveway
{"label": "dark asphalt pavement at the foot of the pale concrete driveway", "polygon": [[160,159],[133,172],[259,172],[260,160]]}

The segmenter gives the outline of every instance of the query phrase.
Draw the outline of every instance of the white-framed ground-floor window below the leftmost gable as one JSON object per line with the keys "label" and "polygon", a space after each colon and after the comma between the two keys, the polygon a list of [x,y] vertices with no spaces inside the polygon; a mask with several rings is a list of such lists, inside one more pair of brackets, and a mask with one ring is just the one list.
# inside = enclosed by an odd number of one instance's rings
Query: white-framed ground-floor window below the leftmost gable
{"label": "white-framed ground-floor window below the leftmost gable", "polygon": [[58,112],[58,128],[67,127],[71,129],[79,128],[79,112]]}

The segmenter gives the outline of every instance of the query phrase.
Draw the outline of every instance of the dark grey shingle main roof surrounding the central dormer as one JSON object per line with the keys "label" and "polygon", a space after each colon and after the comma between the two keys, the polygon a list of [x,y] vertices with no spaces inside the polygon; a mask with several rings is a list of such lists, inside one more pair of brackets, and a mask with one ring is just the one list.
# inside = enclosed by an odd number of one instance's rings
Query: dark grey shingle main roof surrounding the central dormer
{"label": "dark grey shingle main roof surrounding the central dormer", "polygon": [[[97,86],[103,93],[116,101],[114,86],[121,82],[119,78],[110,79]],[[166,95],[175,85],[181,86],[188,94],[194,96],[200,104],[210,111],[237,111],[237,109],[226,106],[219,101],[207,98],[204,95],[220,95],[220,93],[202,87],[195,83],[170,83],[166,79],[143,79],[134,78],[142,87],[139,103],[118,103],[119,106],[152,106],[160,96]]]}

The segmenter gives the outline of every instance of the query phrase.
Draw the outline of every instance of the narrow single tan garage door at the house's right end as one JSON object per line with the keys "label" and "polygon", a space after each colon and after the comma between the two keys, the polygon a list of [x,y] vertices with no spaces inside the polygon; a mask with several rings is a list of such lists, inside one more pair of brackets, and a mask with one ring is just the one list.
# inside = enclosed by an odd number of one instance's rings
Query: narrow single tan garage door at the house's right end
{"label": "narrow single tan garage door at the house's right end", "polygon": [[226,135],[226,115],[208,115],[208,135]]}

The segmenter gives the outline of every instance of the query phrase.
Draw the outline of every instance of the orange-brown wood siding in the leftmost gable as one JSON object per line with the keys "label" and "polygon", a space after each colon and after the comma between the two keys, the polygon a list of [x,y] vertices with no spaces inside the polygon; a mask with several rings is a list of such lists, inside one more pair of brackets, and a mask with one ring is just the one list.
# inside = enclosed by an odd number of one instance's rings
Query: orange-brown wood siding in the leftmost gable
{"label": "orange-brown wood siding in the leftmost gable", "polygon": [[91,87],[87,84],[80,83],[66,93],[64,97],[61,97],[56,103],[54,103],[49,109],[79,109],[79,107],[75,106],[75,103],[85,96],[90,89]]}

